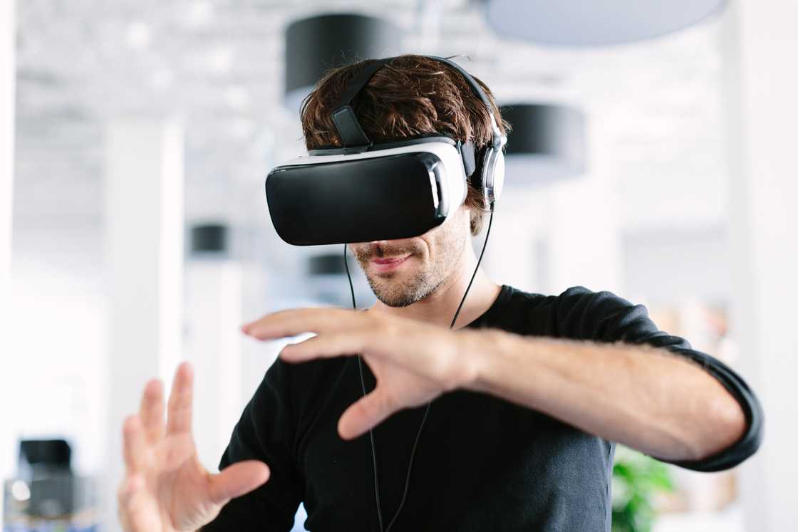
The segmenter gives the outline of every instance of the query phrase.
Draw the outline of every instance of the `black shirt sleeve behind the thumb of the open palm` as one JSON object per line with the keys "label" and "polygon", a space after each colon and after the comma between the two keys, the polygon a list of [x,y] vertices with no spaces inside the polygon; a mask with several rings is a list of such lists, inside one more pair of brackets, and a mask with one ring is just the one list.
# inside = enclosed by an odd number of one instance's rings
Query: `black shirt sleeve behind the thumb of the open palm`
{"label": "black shirt sleeve behind the thumb of the open palm", "polygon": [[289,368],[279,358],[266,372],[235,425],[219,470],[246,459],[261,460],[271,475],[267,483],[223,506],[203,532],[287,532],[302,499],[303,481],[294,454],[290,416]]}

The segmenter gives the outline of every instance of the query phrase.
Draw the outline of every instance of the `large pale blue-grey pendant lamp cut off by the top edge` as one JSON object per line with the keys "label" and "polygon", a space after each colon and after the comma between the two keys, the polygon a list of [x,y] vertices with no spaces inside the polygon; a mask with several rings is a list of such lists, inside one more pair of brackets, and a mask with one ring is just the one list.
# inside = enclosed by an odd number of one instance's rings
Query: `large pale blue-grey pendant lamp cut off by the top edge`
{"label": "large pale blue-grey pendant lamp cut off by the top edge", "polygon": [[601,46],[674,33],[721,13],[728,0],[484,0],[499,37]]}

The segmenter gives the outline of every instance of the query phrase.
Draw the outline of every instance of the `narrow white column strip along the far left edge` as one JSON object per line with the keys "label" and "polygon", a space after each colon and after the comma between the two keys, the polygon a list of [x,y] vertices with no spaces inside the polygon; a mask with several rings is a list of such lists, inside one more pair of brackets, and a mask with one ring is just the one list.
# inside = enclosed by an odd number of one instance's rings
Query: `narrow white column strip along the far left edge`
{"label": "narrow white column strip along the far left edge", "polygon": [[[16,17],[14,0],[0,2],[0,353],[8,353],[8,331],[11,299],[11,227],[14,207],[14,81],[16,77],[15,41]],[[8,356],[8,355],[5,355]],[[3,355],[0,355],[3,357]],[[3,369],[5,368],[5,369]],[[0,366],[0,401],[12,404],[12,372],[7,361]],[[10,410],[10,408],[9,408]],[[3,416],[6,417],[5,415]],[[4,420],[0,424],[0,479],[14,472],[16,424]],[[2,523],[0,505],[0,523]]]}

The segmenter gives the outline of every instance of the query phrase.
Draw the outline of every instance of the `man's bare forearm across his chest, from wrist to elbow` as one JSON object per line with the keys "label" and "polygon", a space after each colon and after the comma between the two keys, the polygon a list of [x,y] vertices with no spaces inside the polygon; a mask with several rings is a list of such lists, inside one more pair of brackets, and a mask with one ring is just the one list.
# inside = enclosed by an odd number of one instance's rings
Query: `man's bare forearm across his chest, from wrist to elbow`
{"label": "man's bare forearm across his chest, from wrist to elbow", "polygon": [[[470,333],[470,332],[469,332]],[[475,331],[467,388],[662,459],[713,455],[745,431],[737,401],[692,361],[646,345]]]}

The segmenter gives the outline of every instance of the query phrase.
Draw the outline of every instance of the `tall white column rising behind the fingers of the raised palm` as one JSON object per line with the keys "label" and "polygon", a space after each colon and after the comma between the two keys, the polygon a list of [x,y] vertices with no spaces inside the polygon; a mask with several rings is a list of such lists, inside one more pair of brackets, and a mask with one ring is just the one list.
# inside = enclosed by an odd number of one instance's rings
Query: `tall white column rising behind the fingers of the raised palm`
{"label": "tall white column rising behind the fingers of the raised palm", "polygon": [[119,530],[121,428],[144,383],[168,391],[181,357],[183,129],[172,120],[119,118],[106,131],[105,253],[108,268],[108,464],[103,530]]}

